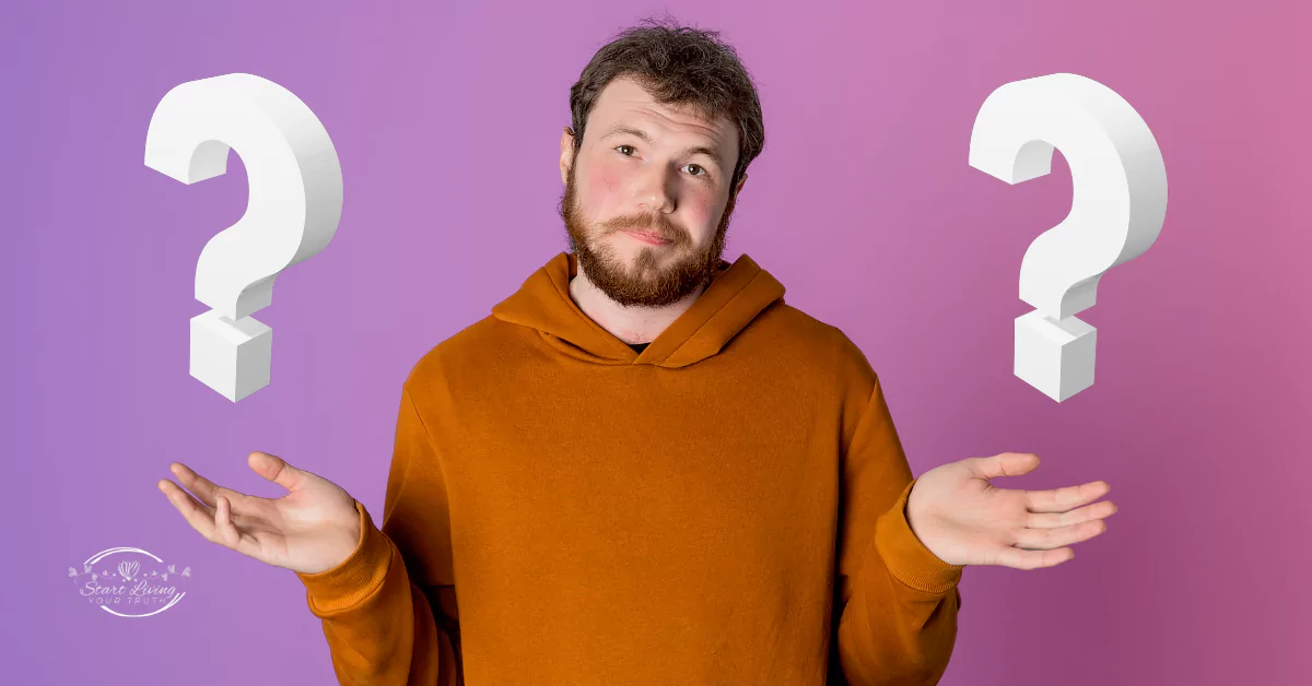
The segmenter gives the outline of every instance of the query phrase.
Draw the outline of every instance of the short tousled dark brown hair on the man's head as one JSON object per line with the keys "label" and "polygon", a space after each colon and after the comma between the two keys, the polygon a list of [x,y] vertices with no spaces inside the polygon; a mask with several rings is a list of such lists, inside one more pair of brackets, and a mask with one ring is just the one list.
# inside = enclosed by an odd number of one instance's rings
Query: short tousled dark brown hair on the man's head
{"label": "short tousled dark brown hair on the man's head", "polygon": [[597,50],[569,88],[573,153],[583,147],[588,115],[606,85],[627,76],[661,105],[687,108],[706,121],[720,117],[737,123],[739,156],[729,178],[737,188],[747,165],[765,148],[761,101],[752,76],[720,33],[681,26],[673,17],[644,18]]}

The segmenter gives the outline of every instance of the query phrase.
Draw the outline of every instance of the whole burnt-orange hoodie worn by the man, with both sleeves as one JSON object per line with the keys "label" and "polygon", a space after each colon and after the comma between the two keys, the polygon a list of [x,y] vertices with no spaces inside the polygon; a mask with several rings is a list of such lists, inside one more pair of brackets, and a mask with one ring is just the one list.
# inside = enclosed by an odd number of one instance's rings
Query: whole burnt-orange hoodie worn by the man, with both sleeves
{"label": "whole burnt-orange hoodie worn by the man, with both sleeves", "polygon": [[341,683],[935,683],[962,567],[879,379],[748,256],[642,353],[556,254],[401,387],[382,529],[298,573]]}

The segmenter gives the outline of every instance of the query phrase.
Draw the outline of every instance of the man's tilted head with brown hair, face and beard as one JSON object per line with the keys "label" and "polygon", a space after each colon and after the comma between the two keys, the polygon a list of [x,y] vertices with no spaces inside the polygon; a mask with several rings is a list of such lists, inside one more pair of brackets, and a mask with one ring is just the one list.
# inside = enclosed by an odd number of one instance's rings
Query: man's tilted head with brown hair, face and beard
{"label": "man's tilted head with brown hair, face and beard", "polygon": [[644,24],[598,50],[569,89],[559,211],[588,281],[622,306],[659,307],[711,278],[765,129],[718,33]]}

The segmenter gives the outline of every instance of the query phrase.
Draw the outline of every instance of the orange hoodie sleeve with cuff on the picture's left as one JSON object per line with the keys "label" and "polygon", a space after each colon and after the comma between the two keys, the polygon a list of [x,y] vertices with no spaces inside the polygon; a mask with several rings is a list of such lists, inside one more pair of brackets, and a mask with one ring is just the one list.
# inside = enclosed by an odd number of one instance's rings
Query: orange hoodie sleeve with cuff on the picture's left
{"label": "orange hoodie sleeve with cuff on the picture's left", "polygon": [[462,683],[446,489],[404,387],[382,529],[358,500],[356,510],[354,552],[332,569],[297,572],[323,622],[338,683]]}

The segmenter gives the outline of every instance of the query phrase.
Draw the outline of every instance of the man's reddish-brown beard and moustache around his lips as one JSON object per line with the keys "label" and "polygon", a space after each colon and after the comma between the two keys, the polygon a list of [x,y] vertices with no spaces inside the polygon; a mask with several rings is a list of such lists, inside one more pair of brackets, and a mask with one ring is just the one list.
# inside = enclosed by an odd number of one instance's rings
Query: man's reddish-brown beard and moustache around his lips
{"label": "man's reddish-brown beard and moustache around his lips", "polygon": [[[575,169],[576,164],[571,164],[565,174],[565,190],[560,195],[559,212],[565,223],[569,248],[579,260],[579,270],[586,274],[588,281],[601,293],[623,307],[661,307],[673,304],[711,282],[724,254],[724,237],[728,232],[729,215],[733,214],[735,193],[729,194],[724,215],[710,244],[698,247],[687,231],[661,212],[656,212],[649,220],[621,216],[600,226],[589,226],[579,207]],[[631,261],[626,260],[614,245],[615,239],[610,236],[628,228],[652,231],[670,243],[643,245],[638,248]]]}

